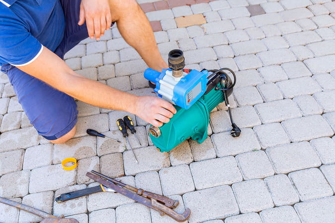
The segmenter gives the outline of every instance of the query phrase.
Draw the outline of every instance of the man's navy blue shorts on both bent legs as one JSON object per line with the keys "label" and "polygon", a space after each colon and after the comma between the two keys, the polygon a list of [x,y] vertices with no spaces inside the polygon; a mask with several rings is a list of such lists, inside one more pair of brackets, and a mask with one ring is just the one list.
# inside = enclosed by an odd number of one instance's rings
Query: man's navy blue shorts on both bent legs
{"label": "man's navy blue shorts on both bent legs", "polygon": [[[88,37],[88,32],[86,23],[81,26],[77,24],[81,0],[60,2],[65,16],[65,33],[55,53],[63,58],[68,50]],[[7,73],[19,103],[40,135],[55,140],[75,126],[78,111],[77,104],[71,96],[12,65],[5,64],[1,70]]]}

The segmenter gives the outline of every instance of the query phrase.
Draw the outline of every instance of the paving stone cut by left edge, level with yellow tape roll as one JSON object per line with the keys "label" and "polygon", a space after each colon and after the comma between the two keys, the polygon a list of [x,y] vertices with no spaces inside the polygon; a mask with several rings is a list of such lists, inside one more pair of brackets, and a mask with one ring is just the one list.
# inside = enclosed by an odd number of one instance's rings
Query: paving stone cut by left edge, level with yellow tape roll
{"label": "paving stone cut by left edge, level with yellow tape roll", "polygon": [[0,153],[0,175],[22,170],[23,155],[23,149]]}

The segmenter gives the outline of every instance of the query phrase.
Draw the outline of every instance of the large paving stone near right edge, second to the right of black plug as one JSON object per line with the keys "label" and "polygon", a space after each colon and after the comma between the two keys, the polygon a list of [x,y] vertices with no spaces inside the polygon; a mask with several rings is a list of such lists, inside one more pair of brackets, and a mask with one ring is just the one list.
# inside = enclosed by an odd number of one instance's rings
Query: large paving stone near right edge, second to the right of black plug
{"label": "large paving stone near right edge, second to the right of black plug", "polygon": [[282,126],[292,142],[309,141],[314,138],[333,136],[334,134],[327,121],[320,115],[285,120],[282,122]]}

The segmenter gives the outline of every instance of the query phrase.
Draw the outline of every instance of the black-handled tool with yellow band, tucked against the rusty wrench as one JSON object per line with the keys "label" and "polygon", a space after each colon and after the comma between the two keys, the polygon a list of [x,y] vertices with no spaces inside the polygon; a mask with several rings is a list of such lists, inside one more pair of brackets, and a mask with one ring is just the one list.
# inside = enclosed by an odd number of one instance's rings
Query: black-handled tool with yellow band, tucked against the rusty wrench
{"label": "black-handled tool with yellow band, tucked against the rusty wrench", "polygon": [[60,203],[63,201],[71,200],[74,198],[86,196],[86,195],[97,193],[97,192],[116,192],[116,191],[104,186],[103,184],[100,184],[99,186],[94,186],[90,188],[85,188],[81,190],[76,190],[76,191],[60,194],[59,196],[55,198],[55,201]]}

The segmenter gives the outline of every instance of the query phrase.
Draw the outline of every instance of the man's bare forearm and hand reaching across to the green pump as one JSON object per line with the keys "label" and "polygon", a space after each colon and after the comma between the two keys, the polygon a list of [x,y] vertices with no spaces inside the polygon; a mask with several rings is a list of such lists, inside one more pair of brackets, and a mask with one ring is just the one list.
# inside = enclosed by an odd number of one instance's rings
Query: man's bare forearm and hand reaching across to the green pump
{"label": "man's bare forearm and hand reaching across to the green pump", "polygon": [[130,112],[156,127],[167,123],[176,112],[172,104],[160,98],[136,96],[82,77],[46,47],[32,63],[17,68],[88,104]]}

